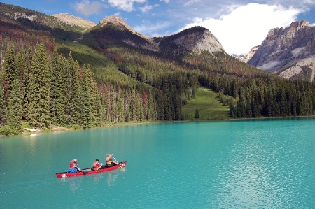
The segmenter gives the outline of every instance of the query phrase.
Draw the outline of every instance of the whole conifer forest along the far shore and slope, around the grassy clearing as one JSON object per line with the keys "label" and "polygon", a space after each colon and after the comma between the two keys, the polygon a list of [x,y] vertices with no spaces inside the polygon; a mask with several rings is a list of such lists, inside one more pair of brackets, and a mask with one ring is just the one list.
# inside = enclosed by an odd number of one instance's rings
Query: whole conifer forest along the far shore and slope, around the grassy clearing
{"label": "whole conifer forest along the far shore and slope, around the grassy clearing", "polygon": [[314,84],[279,78],[225,52],[169,59],[101,46],[116,70],[135,81],[130,82],[118,75],[105,79],[104,68],[92,72],[92,63],[79,64],[80,55],[61,54],[50,36],[43,37],[48,41],[36,45],[1,37],[1,133],[20,134],[22,122],[38,128],[90,128],[107,122],[185,120],[182,106],[200,86],[218,92],[231,117],[314,115]]}

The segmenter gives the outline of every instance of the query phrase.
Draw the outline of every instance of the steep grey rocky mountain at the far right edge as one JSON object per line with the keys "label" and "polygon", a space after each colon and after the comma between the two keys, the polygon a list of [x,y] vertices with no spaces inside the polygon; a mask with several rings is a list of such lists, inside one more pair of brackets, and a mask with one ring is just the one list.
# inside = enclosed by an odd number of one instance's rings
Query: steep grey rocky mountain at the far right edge
{"label": "steep grey rocky mountain at the far right edge", "polygon": [[303,20],[271,29],[247,64],[293,80],[314,80],[315,26]]}

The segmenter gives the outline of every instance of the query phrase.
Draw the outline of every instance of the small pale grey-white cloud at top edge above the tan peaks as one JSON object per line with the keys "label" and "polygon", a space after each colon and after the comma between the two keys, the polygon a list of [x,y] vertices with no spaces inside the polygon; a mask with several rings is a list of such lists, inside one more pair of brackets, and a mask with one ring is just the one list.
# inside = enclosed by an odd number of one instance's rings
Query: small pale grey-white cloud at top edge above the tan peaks
{"label": "small pale grey-white cloud at top edge above the tan peaks", "polygon": [[99,1],[82,0],[71,4],[71,7],[76,10],[77,13],[89,16],[95,13],[99,13],[102,8],[106,8],[106,4]]}

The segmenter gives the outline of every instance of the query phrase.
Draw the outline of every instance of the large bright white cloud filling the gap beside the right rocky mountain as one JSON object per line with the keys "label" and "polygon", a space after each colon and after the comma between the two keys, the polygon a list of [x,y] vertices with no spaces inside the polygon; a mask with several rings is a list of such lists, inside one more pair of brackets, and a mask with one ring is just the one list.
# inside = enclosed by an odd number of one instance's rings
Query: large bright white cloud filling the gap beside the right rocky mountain
{"label": "large bright white cloud filling the gap beside the right rocky mountain", "polygon": [[205,27],[218,38],[226,52],[241,55],[260,45],[270,29],[287,27],[303,12],[302,9],[258,3],[230,6],[228,10],[228,14],[218,19],[195,17],[193,23],[183,29],[196,25]]}

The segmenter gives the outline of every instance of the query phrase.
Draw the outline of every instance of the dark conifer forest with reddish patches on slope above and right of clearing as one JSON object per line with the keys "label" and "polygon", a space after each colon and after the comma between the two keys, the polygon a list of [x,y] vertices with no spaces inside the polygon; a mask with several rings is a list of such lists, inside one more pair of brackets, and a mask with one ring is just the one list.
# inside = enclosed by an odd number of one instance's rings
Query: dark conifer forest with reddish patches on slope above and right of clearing
{"label": "dark conifer forest with reddish patches on slope above and right of clearing", "polygon": [[[230,106],[231,117],[286,117],[314,115],[315,85],[279,78],[239,62],[225,52],[187,55],[183,61],[165,60],[125,48],[107,50],[120,71],[155,88],[176,88],[186,103],[203,86],[218,92]],[[167,77],[171,86],[163,86]],[[172,87],[173,86],[173,87]]]}

